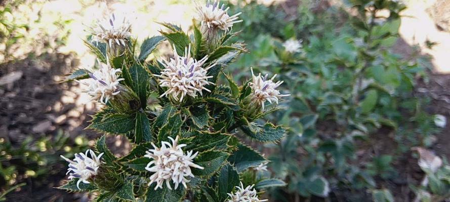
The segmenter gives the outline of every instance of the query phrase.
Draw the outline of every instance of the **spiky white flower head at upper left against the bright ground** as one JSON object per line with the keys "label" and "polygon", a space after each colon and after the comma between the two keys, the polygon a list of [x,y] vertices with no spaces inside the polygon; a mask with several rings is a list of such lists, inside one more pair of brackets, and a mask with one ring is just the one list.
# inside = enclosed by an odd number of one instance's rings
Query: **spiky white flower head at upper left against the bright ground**
{"label": "spiky white flower head at upper left against the bright ground", "polygon": [[131,36],[131,23],[125,14],[112,13],[108,18],[97,20],[96,27],[90,27],[94,41],[105,42],[109,47],[114,45],[127,46],[126,41]]}

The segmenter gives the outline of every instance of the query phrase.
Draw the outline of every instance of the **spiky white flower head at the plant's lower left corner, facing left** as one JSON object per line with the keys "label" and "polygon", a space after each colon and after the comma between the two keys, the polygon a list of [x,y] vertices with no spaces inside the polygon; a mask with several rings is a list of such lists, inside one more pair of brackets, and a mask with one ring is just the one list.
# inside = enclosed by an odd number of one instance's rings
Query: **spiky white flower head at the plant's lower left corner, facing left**
{"label": "spiky white flower head at the plant's lower left corner, facing left", "polygon": [[[88,157],[88,153],[91,154],[91,158]],[[61,158],[69,162],[69,168],[67,169],[67,174],[70,176],[69,179],[78,178],[76,182],[76,187],[79,189],[79,183],[83,182],[89,184],[88,179],[92,176],[97,175],[98,169],[100,167],[100,158],[103,156],[101,153],[99,156],[95,155],[94,151],[91,149],[86,150],[86,153],[75,154],[75,159],[70,160],[61,155]]]}

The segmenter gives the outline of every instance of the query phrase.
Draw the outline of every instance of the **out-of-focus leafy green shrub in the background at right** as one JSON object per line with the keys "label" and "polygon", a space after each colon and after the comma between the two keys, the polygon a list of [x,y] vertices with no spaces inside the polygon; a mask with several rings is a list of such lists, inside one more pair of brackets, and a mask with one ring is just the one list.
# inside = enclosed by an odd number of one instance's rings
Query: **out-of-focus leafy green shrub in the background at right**
{"label": "out-of-focus leafy green shrub in the background at right", "polygon": [[[302,1],[296,16],[255,1],[233,9],[250,13],[240,36],[252,53],[234,71],[256,66],[278,73],[293,95],[284,113],[268,117],[290,126],[280,146],[268,145],[274,151],[269,166],[289,182],[288,189],[269,192],[272,199],[366,201],[372,195],[374,201],[392,201],[390,190],[379,188],[398,181],[404,168],[394,163],[412,146],[430,146],[438,132],[423,110],[428,100],[413,93],[418,78],[427,80],[428,59],[392,52],[405,6],[390,0],[342,6]],[[303,40],[299,52],[286,48],[290,39]],[[379,141],[392,148],[377,149]]]}

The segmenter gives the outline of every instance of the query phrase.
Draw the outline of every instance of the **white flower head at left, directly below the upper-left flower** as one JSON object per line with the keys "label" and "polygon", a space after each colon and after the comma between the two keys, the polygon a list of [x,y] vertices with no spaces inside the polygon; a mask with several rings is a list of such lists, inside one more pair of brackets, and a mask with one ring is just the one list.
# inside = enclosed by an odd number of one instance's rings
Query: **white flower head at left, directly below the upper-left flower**
{"label": "white flower head at left, directly below the upper-left flower", "polygon": [[91,78],[78,81],[87,87],[82,90],[91,96],[91,100],[97,100],[106,104],[108,100],[117,95],[119,82],[124,80],[118,78],[118,74],[122,72],[120,69],[113,69],[109,62],[107,64],[100,63],[100,68],[93,73],[89,73]]}

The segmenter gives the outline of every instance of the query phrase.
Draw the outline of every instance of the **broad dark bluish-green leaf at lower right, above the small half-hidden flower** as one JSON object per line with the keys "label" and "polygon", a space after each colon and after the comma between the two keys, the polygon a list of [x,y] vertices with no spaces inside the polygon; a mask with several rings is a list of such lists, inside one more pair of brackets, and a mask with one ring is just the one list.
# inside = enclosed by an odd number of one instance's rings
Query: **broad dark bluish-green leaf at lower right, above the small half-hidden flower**
{"label": "broad dark bluish-green leaf at lower right, above the small half-hidden flower", "polygon": [[239,173],[267,161],[263,156],[248,146],[239,144],[237,148],[238,149],[228,158],[228,161],[234,165],[234,168],[236,168]]}

